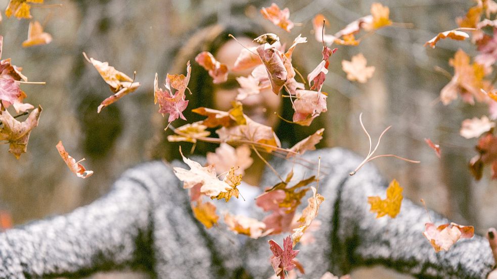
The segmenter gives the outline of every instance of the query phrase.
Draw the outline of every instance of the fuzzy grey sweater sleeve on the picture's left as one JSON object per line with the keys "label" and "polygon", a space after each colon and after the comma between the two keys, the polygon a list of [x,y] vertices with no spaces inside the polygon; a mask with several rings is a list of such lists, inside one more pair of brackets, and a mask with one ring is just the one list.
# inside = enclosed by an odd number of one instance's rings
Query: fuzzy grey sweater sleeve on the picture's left
{"label": "fuzzy grey sweater sleeve on the picture's left", "polygon": [[129,176],[66,215],[0,234],[0,278],[83,276],[142,261],[150,245],[150,194]]}

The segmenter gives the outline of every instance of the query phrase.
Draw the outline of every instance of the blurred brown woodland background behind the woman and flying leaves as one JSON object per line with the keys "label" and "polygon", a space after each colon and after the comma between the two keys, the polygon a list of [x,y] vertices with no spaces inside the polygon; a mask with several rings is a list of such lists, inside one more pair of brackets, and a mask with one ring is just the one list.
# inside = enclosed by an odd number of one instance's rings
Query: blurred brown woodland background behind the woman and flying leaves
{"label": "blurred brown woodland background behind the woman and flying leaves", "polygon": [[[315,41],[312,18],[324,14],[334,33],[355,19],[370,14],[374,1],[301,0],[275,1],[290,9],[290,20],[301,23],[291,33],[264,20],[258,10],[271,1],[198,1],[198,0],[47,0],[59,8],[32,8],[35,20],[54,37],[48,45],[22,48],[27,38],[28,20],[6,18],[0,24],[4,36],[2,59],[12,58],[23,67],[30,81],[47,85],[21,88],[33,105],[43,113],[33,130],[27,153],[16,159],[0,145],[0,210],[10,212],[14,225],[53,214],[63,214],[91,203],[107,193],[112,182],[131,166],[149,160],[147,148],[163,131],[162,116],[153,102],[155,72],[164,77],[170,69],[171,51],[193,34],[204,17],[217,15],[219,23],[236,20],[239,13],[277,33],[291,43],[299,33],[306,36],[305,47],[297,47],[294,57],[308,73],[321,61],[320,42]],[[486,105],[469,105],[460,99],[444,106],[438,101],[440,89],[448,79],[434,70],[450,73],[448,59],[458,48],[470,55],[475,47],[468,41],[441,41],[435,49],[423,47],[436,33],[457,28],[456,17],[474,6],[471,0],[382,0],[390,8],[394,22],[412,23],[413,28],[386,27],[368,36],[359,46],[338,46],[330,62],[323,91],[328,92],[325,133],[329,146],[343,146],[366,155],[368,141],[359,126],[359,113],[375,141],[381,131],[392,125],[377,154],[392,153],[421,160],[411,164],[380,158],[374,164],[387,180],[397,179],[406,197],[448,216],[458,224],[474,225],[484,234],[497,226],[497,184],[490,181],[489,170],[476,182],[467,168],[476,155],[476,139],[459,135],[461,122],[486,113]],[[8,0],[0,0],[0,8]],[[2,12],[3,13],[3,12]],[[108,61],[117,70],[132,76],[141,87],[97,114],[97,106],[111,93],[95,68],[85,62],[89,57]],[[348,81],[341,61],[363,53],[368,65],[376,67],[366,84]],[[305,57],[305,59],[303,59]],[[305,76],[305,74],[304,74]],[[160,123],[160,125],[158,125]],[[431,138],[440,144],[438,159],[424,142]],[[69,172],[55,148],[62,140],[76,159],[95,171],[82,180]],[[361,268],[353,278],[400,278],[385,268]],[[92,278],[148,278],[147,274],[102,273]],[[402,277],[403,278],[403,277]],[[409,277],[405,277],[409,278]]]}

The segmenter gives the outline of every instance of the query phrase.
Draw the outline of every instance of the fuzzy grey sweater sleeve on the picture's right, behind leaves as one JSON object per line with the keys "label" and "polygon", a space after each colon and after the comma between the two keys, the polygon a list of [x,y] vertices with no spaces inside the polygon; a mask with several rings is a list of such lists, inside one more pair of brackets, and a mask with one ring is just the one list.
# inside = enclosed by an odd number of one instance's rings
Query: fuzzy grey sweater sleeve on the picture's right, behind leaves
{"label": "fuzzy grey sweater sleeve on the picture's right, behind leaves", "polygon": [[[339,248],[336,251],[345,255],[342,270],[383,264],[419,278],[486,278],[494,261],[485,238],[475,235],[459,240],[446,252],[435,253],[422,234],[429,217],[423,207],[408,199],[402,201],[395,218],[375,218],[368,196],[385,198],[386,186],[378,172],[368,166],[345,179],[337,189],[332,239],[334,247]],[[436,226],[450,222],[437,213],[430,215]]]}

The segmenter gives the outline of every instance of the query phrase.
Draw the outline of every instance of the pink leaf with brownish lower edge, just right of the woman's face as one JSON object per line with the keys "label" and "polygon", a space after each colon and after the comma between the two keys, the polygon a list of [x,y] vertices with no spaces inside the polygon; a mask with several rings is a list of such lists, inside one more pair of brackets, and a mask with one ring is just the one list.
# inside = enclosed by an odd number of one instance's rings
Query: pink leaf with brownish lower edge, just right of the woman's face
{"label": "pink leaf with brownish lower edge, just right of the woman's face", "polygon": [[299,125],[309,126],[314,118],[328,110],[327,96],[323,93],[298,89],[295,96],[297,99],[293,102],[295,108],[293,122]]}

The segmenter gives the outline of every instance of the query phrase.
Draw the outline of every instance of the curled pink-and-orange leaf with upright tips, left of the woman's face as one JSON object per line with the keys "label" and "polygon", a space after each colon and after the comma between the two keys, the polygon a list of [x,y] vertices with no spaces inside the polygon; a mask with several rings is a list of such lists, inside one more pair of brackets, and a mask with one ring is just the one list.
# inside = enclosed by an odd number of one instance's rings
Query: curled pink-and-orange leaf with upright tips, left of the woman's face
{"label": "curled pink-and-orange leaf with upright tips, left of the woman's face", "polygon": [[[190,82],[192,67],[190,61],[187,62],[187,76],[169,75],[166,76],[165,90],[159,88],[157,73],[154,80],[154,103],[159,103],[159,113],[163,116],[169,114],[168,122],[181,118],[187,120],[183,111],[187,108],[188,100],[185,100],[185,91]],[[173,92],[176,89],[176,92]]]}

